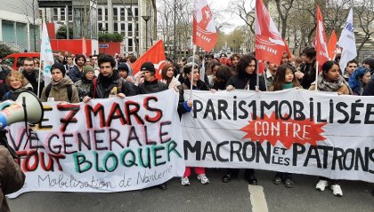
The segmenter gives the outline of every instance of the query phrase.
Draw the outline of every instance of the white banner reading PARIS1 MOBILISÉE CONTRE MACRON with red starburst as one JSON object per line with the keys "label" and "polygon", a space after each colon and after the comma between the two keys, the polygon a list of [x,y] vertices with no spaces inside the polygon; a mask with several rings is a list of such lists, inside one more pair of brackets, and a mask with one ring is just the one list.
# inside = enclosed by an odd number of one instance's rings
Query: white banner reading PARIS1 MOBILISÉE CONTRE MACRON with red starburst
{"label": "white banner reading PARIS1 MOBILIS\u00c9E CONTRE MACRON with red starburst", "polygon": [[192,95],[182,118],[186,166],[374,182],[373,97],[296,89]]}

